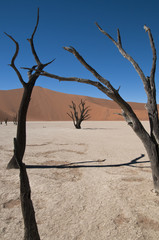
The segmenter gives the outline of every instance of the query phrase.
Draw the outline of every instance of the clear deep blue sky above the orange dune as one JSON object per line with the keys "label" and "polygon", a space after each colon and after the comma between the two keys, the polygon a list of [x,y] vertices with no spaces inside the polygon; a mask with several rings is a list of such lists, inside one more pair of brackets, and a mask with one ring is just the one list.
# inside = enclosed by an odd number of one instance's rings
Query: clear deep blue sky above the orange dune
{"label": "clear deep blue sky above the orange dune", "polygon": [[[17,67],[35,64],[29,42],[40,8],[40,22],[35,35],[35,48],[42,62],[56,58],[45,70],[65,77],[94,77],[63,46],[73,46],[127,101],[146,102],[143,85],[132,65],[124,59],[113,43],[94,24],[95,21],[116,38],[120,29],[123,48],[138,62],[146,76],[150,74],[152,51],[146,24],[151,28],[159,53],[158,0],[0,0],[0,89],[21,88],[8,66],[15,46],[4,32],[11,34],[20,45]],[[158,63],[157,63],[158,65]],[[27,73],[21,70],[24,80]],[[159,70],[156,72],[159,87]],[[68,83],[40,77],[36,85],[51,90],[107,98],[98,89],[80,83]],[[158,97],[158,95],[157,95]]]}

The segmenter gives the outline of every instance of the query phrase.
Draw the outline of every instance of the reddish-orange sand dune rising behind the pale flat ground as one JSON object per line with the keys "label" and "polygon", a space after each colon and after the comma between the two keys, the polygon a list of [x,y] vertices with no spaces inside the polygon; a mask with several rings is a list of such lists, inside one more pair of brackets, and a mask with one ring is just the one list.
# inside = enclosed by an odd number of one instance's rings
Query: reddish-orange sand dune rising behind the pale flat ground
{"label": "reddish-orange sand dune rising behind the pale flat ground", "polygon": [[[6,118],[12,121],[16,116],[21,101],[23,89],[0,90],[0,121]],[[91,108],[91,121],[123,120],[115,113],[121,113],[120,108],[111,100],[92,98],[86,96],[65,94],[49,89],[34,87],[27,120],[28,121],[67,121],[71,101],[79,104],[86,100],[86,105]],[[147,120],[145,104],[130,103],[140,120]]]}

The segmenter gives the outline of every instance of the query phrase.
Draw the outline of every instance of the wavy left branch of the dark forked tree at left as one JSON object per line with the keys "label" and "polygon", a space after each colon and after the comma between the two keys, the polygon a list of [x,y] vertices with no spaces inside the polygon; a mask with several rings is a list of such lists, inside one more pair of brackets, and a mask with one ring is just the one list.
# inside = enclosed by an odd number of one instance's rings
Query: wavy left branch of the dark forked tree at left
{"label": "wavy left branch of the dark forked tree at left", "polygon": [[19,70],[17,69],[17,67],[15,66],[15,63],[14,63],[14,62],[15,62],[15,59],[16,59],[16,57],[18,56],[18,53],[19,53],[19,44],[18,44],[18,42],[16,42],[15,39],[14,39],[12,36],[10,36],[9,34],[5,33],[5,35],[6,35],[7,37],[9,37],[9,38],[15,43],[15,45],[16,45],[16,50],[15,50],[14,56],[12,57],[10,66],[11,66],[11,67],[14,69],[14,71],[16,72],[16,74],[17,74],[17,76],[18,76],[21,84],[23,85],[23,87],[25,87],[26,83],[24,82],[24,80],[23,80],[23,78],[22,78]]}

